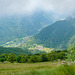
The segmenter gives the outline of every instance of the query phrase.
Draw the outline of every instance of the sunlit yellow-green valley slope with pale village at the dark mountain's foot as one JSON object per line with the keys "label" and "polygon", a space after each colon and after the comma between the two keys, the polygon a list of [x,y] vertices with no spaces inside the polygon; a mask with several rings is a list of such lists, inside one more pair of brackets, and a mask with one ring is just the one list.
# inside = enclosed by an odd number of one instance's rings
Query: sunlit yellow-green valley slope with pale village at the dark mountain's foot
{"label": "sunlit yellow-green valley slope with pale village at the dark mountain's foot", "polygon": [[49,53],[52,50],[54,50],[53,48],[46,48],[42,44],[40,44],[40,45],[36,44],[36,41],[35,41],[34,37],[28,39],[26,42],[21,44],[19,47],[22,48],[22,49],[27,47],[30,51],[32,51],[32,53],[36,52],[36,50],[38,50],[38,51],[45,51],[47,53]]}

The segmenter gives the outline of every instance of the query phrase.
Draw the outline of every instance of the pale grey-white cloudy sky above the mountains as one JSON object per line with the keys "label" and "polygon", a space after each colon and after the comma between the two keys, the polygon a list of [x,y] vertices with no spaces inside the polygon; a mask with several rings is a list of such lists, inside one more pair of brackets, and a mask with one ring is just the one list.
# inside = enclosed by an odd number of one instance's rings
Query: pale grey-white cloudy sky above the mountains
{"label": "pale grey-white cloudy sky above the mountains", "polygon": [[0,15],[31,14],[38,10],[72,15],[75,0],[0,0]]}

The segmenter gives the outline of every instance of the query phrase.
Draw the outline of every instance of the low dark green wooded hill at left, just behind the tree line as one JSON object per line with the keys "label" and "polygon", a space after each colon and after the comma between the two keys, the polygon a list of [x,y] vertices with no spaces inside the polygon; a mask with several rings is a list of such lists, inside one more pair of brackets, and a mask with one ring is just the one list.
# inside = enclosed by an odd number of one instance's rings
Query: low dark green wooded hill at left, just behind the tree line
{"label": "low dark green wooded hill at left, just behind the tree line", "polygon": [[0,46],[0,54],[3,54],[3,53],[6,53],[6,54],[9,54],[9,53],[14,53],[16,55],[20,55],[20,54],[31,54],[31,52],[28,51],[28,49],[21,49],[21,48],[12,48],[12,47],[1,47]]}

